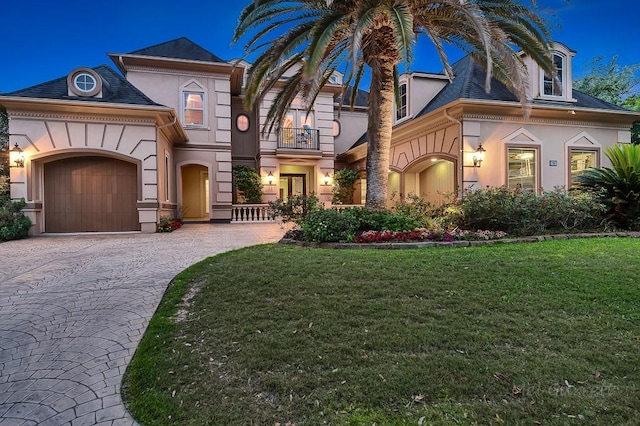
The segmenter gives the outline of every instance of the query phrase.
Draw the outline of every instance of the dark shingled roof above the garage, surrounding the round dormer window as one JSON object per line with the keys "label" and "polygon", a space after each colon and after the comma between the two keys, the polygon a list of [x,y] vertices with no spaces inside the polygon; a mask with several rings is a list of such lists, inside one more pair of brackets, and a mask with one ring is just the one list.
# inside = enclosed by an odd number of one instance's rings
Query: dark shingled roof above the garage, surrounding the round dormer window
{"label": "dark shingled roof above the garage, surrounding the round dormer window", "polygon": [[106,84],[102,85],[102,98],[69,96],[67,76],[15,92],[3,93],[3,96],[160,106],[160,104],[149,99],[110,66],[100,65],[92,69],[106,82]]}

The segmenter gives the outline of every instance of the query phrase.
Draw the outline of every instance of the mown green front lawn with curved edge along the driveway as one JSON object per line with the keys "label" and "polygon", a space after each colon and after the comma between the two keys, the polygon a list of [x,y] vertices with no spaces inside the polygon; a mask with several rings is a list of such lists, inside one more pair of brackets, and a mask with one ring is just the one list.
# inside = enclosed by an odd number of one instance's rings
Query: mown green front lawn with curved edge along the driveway
{"label": "mown green front lawn with curved edge along the driveway", "polygon": [[599,238],[208,258],[167,291],[125,400],[143,425],[637,425],[639,253]]}

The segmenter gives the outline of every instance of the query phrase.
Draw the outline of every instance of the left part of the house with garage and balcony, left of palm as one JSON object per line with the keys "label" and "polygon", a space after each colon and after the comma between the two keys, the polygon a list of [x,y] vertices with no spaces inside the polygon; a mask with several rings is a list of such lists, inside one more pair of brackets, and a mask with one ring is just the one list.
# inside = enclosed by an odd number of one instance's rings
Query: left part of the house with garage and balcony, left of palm
{"label": "left part of the house with garage and balcony, left of palm", "polygon": [[76,68],[0,96],[11,146],[25,159],[11,169],[11,196],[27,201],[33,233],[153,232],[161,216],[229,222],[240,164],[259,170],[265,202],[311,193],[331,201],[341,75],[310,112],[294,103],[268,133],[275,92],[245,111],[247,63],[186,38],[109,57],[122,75],[106,65]]}

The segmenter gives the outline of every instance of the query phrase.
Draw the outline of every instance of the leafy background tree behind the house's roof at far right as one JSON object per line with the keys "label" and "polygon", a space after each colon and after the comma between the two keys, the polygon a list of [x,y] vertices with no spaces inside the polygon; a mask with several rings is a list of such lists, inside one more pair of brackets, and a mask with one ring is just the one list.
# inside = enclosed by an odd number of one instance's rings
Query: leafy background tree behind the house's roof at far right
{"label": "leafy background tree behind the house's roof at far right", "polygon": [[[618,55],[609,62],[600,56],[593,60],[587,74],[573,82],[573,88],[614,105],[640,111],[640,64],[618,65]],[[640,143],[640,122],[631,128],[631,141]]]}

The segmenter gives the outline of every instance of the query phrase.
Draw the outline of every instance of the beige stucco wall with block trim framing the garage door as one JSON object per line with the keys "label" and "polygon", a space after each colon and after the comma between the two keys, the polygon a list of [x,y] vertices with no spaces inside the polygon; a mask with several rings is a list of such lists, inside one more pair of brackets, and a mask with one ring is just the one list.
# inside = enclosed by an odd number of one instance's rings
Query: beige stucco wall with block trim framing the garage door
{"label": "beige stucco wall with block trim framing the garage door", "polygon": [[[153,119],[106,118],[83,114],[64,115],[8,111],[10,144],[23,149],[24,168],[11,169],[11,196],[24,198],[34,226],[44,231],[43,164],[78,155],[102,155],[138,165],[138,208],[143,231],[155,231],[158,203],[158,158]],[[155,207],[149,207],[155,206]],[[151,224],[153,224],[151,226]]]}

